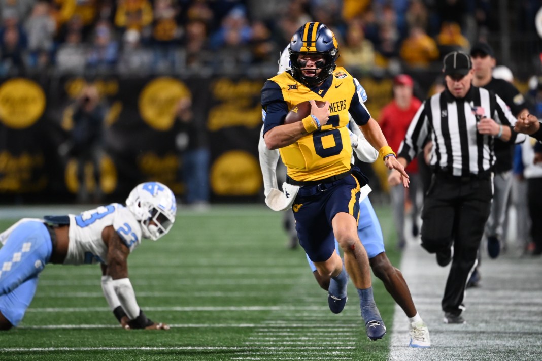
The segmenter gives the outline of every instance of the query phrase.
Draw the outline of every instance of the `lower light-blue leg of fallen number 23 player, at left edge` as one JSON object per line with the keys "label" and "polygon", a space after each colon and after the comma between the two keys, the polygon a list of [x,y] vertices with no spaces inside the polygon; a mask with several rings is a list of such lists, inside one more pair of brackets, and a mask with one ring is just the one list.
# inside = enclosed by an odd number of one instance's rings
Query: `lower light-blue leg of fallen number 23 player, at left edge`
{"label": "lower light-blue leg of fallen number 23 player, at left edge", "polygon": [[0,330],[7,331],[21,322],[36,293],[37,280],[36,275],[12,292],[0,295]]}

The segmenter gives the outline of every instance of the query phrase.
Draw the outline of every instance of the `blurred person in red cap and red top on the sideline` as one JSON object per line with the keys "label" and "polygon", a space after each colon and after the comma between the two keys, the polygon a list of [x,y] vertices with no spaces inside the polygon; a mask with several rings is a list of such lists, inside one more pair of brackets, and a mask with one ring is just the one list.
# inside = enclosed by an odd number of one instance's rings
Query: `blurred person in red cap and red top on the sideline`
{"label": "blurred person in red cap and red top on the sideline", "polygon": [[[393,100],[386,105],[380,113],[378,123],[388,144],[393,151],[399,150],[399,145],[405,137],[410,121],[414,118],[416,111],[422,102],[412,95],[414,81],[410,75],[399,74],[393,78]],[[410,187],[404,189],[402,186],[391,186],[390,197],[393,210],[393,218],[397,230],[397,246],[405,246],[405,195],[408,195],[412,204],[412,235],[418,235],[417,218],[420,215],[420,207],[416,202],[416,195],[420,190],[420,175],[418,174],[418,163],[416,159],[408,165],[406,170],[410,175]]]}

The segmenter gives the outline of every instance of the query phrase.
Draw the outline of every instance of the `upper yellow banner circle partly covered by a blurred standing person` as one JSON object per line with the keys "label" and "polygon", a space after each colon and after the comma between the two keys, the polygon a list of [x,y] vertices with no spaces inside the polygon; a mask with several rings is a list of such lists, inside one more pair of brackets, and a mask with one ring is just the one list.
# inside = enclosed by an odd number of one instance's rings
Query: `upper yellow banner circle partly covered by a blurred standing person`
{"label": "upper yellow banner circle partly covered by a blurred standing person", "polygon": [[139,114],[152,128],[170,130],[175,123],[177,102],[183,98],[191,98],[191,93],[182,81],[169,76],[154,79],[139,95]]}

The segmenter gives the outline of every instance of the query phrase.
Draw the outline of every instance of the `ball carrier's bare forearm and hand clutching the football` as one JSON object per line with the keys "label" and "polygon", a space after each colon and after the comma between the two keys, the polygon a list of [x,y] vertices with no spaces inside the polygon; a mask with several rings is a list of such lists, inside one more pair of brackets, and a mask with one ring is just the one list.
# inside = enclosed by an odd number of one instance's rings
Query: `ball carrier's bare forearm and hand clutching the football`
{"label": "ball carrier's bare forearm and hand clutching the football", "polygon": [[[327,120],[330,117],[330,102],[326,101],[325,105],[318,107],[314,100],[311,100],[311,115],[320,122],[320,126],[327,124]],[[314,122],[314,130],[317,130],[319,126],[314,119],[310,119],[309,122]],[[310,128],[307,131],[306,124],[302,121],[291,124],[283,124],[276,126],[269,130],[263,139],[266,141],[267,149],[275,150],[290,144],[294,144],[300,138],[305,137],[311,133]]]}

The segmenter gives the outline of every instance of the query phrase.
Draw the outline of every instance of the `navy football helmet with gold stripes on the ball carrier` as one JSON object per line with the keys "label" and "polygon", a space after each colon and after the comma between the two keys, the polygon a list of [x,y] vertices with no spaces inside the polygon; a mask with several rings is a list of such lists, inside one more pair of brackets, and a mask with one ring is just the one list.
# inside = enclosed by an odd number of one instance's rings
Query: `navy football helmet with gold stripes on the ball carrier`
{"label": "navy football helmet with gold stripes on the ball carrier", "polygon": [[[335,61],[339,57],[337,39],[326,25],[318,22],[306,23],[295,32],[290,41],[290,62],[292,76],[295,80],[306,86],[312,87],[329,78],[337,65]],[[316,76],[305,76],[305,64],[299,62],[300,55],[322,55],[323,64],[318,64],[317,69],[322,69]],[[313,69],[311,69],[313,70]]]}

